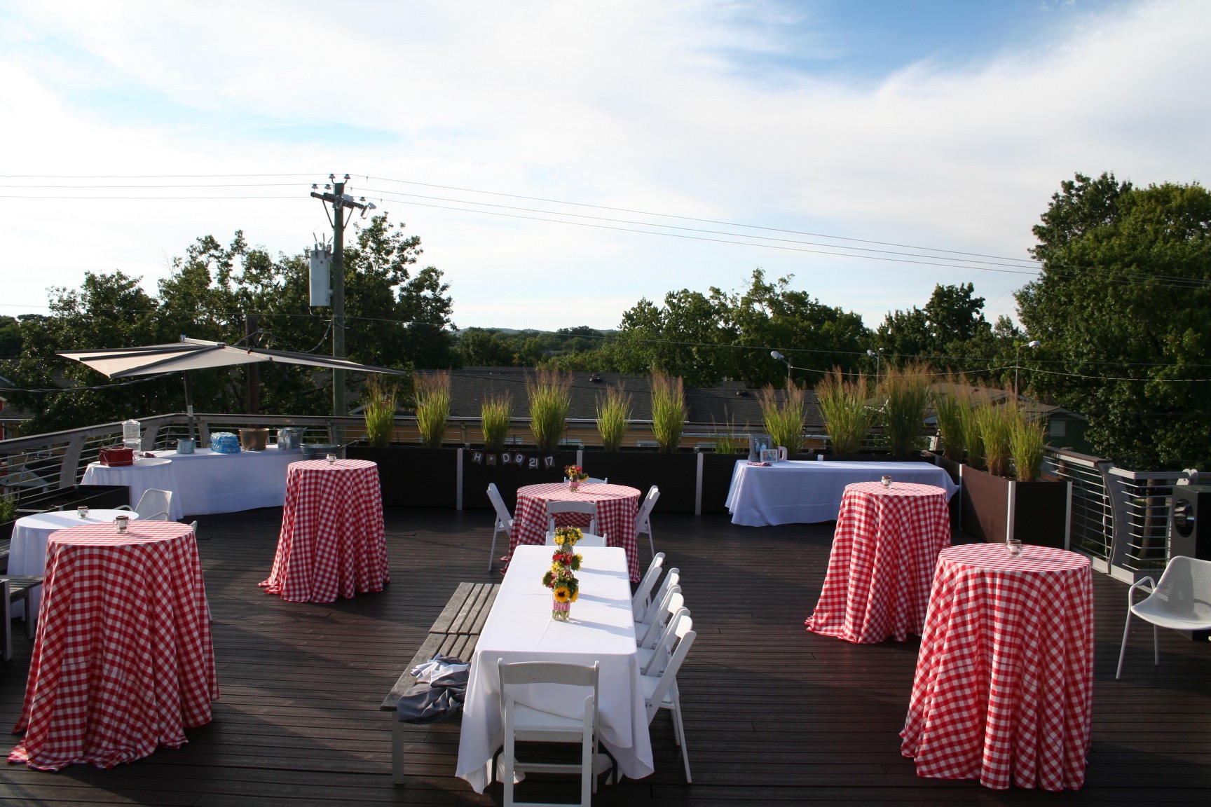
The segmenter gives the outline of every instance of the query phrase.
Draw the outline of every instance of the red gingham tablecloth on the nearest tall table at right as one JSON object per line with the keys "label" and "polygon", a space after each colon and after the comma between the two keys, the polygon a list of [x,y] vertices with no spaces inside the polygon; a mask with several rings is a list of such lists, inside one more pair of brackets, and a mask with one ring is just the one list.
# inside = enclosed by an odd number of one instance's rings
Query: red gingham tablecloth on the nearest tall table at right
{"label": "red gingham tablecloth on the nearest tall table at right", "polygon": [[1079,789],[1094,710],[1089,558],[1001,543],[945,549],[901,751],[917,773],[1003,790]]}

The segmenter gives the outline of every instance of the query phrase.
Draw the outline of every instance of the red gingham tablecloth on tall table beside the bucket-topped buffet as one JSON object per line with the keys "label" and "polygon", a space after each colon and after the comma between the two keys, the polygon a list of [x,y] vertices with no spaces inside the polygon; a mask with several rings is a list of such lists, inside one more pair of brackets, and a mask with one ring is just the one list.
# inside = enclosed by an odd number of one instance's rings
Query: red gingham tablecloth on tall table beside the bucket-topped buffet
{"label": "red gingham tablecloth on tall table beside the bucket-topped buffet", "polygon": [[391,581],[378,466],[366,460],[306,460],[286,471],[286,506],[268,594],[333,603],[381,592]]}

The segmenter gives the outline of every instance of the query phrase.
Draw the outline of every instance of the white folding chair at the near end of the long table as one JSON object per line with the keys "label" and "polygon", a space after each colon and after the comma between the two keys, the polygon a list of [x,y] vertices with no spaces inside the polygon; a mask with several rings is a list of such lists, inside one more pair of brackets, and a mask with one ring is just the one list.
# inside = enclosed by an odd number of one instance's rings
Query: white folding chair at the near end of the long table
{"label": "white folding chair at the near end of the long table", "polygon": [[[505,748],[500,755],[498,777],[505,785],[505,807],[513,805],[532,805],[538,802],[517,802],[513,800],[513,777],[516,773],[569,773],[580,772],[580,803],[590,807],[592,794],[597,791],[597,681],[601,663],[592,667],[579,664],[556,664],[547,662],[520,662],[506,664],[498,659],[497,670],[500,675],[500,716],[504,724]],[[513,690],[520,686],[540,684],[544,686],[569,686],[592,690],[585,698],[585,711],[581,717],[543,711],[534,707],[518,703]],[[536,743],[580,743],[580,762],[522,762],[517,759],[516,742]]]}

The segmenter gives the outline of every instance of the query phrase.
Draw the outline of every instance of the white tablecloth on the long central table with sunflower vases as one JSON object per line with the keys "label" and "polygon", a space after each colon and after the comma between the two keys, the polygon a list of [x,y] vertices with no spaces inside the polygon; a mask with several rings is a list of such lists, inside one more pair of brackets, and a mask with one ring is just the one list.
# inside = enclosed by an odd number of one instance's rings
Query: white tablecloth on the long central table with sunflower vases
{"label": "white tablecloth on the long central table with sunflower vases", "polygon": [[[580,598],[572,604],[572,621],[551,619],[551,589],[543,572],[551,567],[551,547],[521,546],[513,551],[509,572],[492,613],[483,626],[471,664],[463,728],[459,737],[458,776],[483,792],[487,763],[504,745],[500,720],[500,684],[497,659],[511,662],[601,662],[598,713],[602,744],[632,779],[653,772],[648,717],[635,646],[631,586],[626,554],[616,547],[580,549],[584,565],[576,572]],[[535,687],[540,690],[541,687]],[[520,702],[568,717],[584,714],[584,699],[558,703],[550,692]]]}

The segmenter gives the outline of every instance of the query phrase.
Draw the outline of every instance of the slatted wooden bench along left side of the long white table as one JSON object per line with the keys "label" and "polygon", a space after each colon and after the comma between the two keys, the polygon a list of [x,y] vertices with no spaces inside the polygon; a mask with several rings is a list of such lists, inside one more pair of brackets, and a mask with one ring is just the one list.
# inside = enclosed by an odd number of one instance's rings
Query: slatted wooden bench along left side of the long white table
{"label": "slatted wooden bench along left side of the long white table", "polygon": [[[417,655],[403,670],[403,675],[383,698],[383,711],[391,719],[391,782],[403,784],[403,724],[396,717],[396,705],[400,697],[417,682],[412,669],[427,662],[434,656],[458,656],[470,663],[480,632],[488,619],[492,604],[497,601],[500,583],[459,583],[446,607],[437,616],[429,635],[420,644]],[[461,722],[461,715],[450,722]]]}

